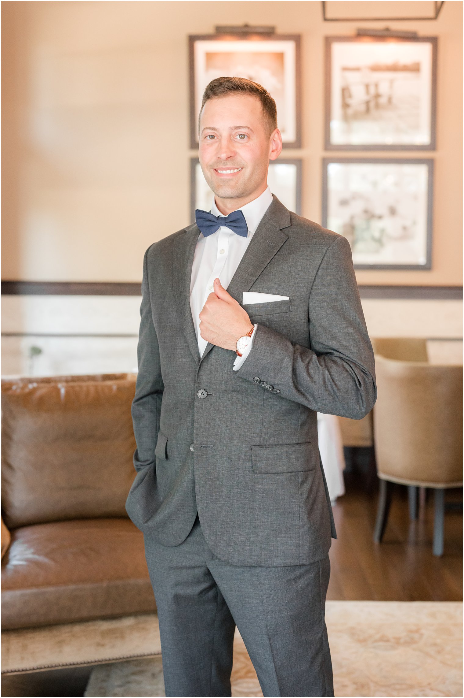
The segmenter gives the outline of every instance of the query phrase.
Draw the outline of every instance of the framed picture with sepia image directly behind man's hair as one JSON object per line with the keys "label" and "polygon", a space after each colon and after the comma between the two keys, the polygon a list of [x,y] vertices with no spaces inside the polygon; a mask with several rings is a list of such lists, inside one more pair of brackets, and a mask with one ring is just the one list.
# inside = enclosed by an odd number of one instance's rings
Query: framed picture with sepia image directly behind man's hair
{"label": "framed picture with sepia image directly behind man's hair", "polygon": [[286,148],[301,147],[300,36],[190,36],[190,147],[198,147],[198,117],[206,85],[215,77],[247,77],[277,105]]}

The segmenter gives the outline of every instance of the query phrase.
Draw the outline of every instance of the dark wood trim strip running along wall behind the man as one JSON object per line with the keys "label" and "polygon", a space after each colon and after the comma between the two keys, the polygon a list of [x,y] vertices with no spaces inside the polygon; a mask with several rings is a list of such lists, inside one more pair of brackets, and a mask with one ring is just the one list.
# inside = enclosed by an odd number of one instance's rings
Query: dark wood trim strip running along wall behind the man
{"label": "dark wood trim strip running along wall behind the man", "polygon": [[[97,281],[2,281],[1,295],[139,296],[140,283]],[[359,286],[362,298],[459,300],[462,286]]]}

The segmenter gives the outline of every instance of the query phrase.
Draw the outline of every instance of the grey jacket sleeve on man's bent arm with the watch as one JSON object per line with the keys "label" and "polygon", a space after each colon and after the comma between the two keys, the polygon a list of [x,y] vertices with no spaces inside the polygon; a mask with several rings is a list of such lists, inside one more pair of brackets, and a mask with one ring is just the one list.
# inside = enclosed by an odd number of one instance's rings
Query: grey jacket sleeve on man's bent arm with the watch
{"label": "grey jacket sleeve on man's bent arm with the watch", "polygon": [[253,352],[237,376],[255,384],[257,378],[267,381],[279,390],[276,399],[362,419],[377,398],[375,364],[350,244],[341,235],[327,247],[316,272],[308,318],[310,348],[260,322]]}

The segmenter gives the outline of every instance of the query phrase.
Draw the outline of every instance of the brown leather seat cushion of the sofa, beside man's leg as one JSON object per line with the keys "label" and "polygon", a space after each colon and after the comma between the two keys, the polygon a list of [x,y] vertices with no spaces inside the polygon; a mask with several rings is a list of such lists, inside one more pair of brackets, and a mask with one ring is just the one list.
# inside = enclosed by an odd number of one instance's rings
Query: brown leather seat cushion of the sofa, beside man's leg
{"label": "brown leather seat cushion of the sofa, beside man's leg", "polygon": [[144,536],[130,519],[25,526],[1,565],[1,628],[31,628],[156,610]]}

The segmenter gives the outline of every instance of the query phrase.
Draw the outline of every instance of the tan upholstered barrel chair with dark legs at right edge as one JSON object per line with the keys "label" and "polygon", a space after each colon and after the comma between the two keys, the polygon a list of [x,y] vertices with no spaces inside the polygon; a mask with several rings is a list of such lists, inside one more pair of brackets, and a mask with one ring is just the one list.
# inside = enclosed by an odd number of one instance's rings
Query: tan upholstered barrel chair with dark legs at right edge
{"label": "tan upholstered barrel chair with dark legs at right edge", "polygon": [[392,483],[435,492],[433,554],[443,554],[444,489],[463,484],[463,367],[428,364],[423,339],[373,339],[378,398],[373,408],[380,498],[374,540],[382,540]]}

